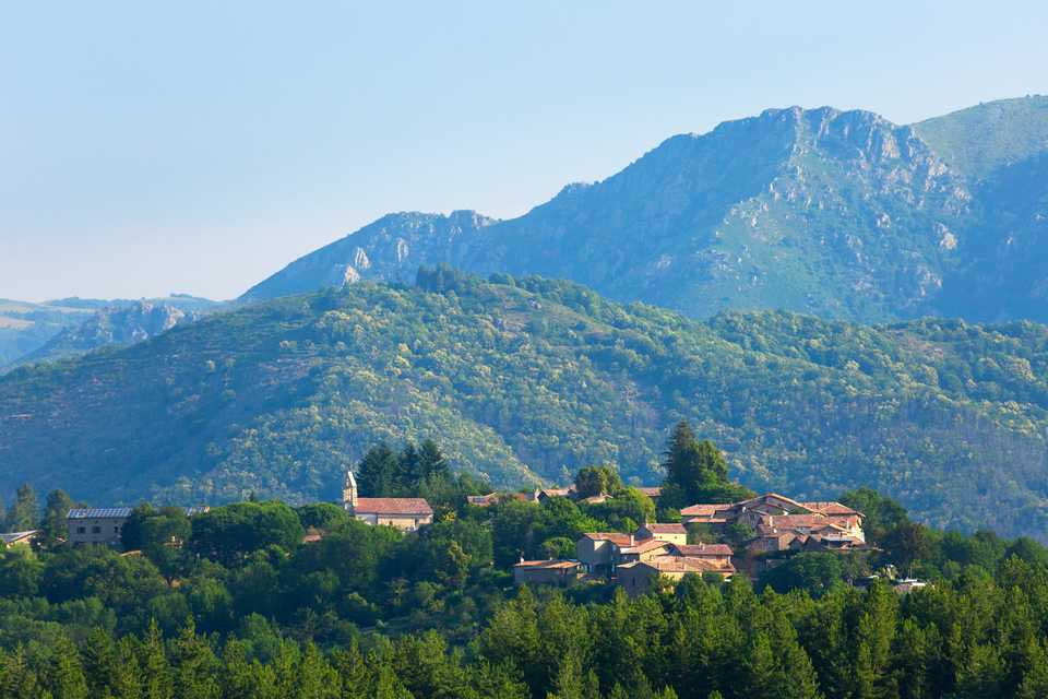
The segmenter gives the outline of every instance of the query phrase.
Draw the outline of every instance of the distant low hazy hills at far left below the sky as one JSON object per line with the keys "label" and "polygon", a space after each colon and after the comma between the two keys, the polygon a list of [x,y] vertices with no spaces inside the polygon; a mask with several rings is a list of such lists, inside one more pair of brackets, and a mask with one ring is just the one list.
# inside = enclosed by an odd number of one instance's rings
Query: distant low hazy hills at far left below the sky
{"label": "distant low hazy hills at far left below the sky", "polygon": [[61,298],[43,304],[0,299],[0,371],[21,364],[128,344],[223,308],[206,298],[172,294],[158,299]]}

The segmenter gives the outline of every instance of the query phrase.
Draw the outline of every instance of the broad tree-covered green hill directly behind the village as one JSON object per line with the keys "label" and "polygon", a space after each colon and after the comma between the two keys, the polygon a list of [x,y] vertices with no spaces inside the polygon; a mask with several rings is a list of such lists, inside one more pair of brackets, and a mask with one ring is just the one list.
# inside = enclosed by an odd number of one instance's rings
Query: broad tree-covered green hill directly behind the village
{"label": "broad tree-covered green hill directly behind the village", "polygon": [[386,440],[493,485],[615,462],[660,478],[680,418],[757,489],[868,485],[940,525],[1048,538],[1048,328],[701,322],[568,283],[422,271],[179,325],[0,378],[0,491],[97,505],[338,497]]}

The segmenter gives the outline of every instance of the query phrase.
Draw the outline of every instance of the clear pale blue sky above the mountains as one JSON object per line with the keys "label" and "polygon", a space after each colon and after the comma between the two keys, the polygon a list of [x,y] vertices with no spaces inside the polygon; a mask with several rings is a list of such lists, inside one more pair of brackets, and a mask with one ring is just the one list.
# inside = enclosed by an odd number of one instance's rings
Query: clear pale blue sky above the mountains
{"label": "clear pale blue sky above the mountains", "polygon": [[1033,1],[5,3],[0,298],[231,298],[384,213],[517,216],[769,107],[1048,93],[1045,27]]}

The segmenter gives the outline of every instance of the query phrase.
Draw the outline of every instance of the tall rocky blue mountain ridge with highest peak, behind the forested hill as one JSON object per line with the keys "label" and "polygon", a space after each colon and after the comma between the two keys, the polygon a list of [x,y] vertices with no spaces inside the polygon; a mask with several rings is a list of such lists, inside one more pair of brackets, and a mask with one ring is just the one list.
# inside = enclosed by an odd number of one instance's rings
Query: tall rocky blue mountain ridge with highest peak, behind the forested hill
{"label": "tall rocky blue mountain ridge with highest peak, behind the forested hill", "polygon": [[404,281],[419,264],[448,262],[570,279],[695,318],[786,309],[862,322],[1048,321],[1048,272],[1034,257],[1048,226],[1046,134],[1046,97],[914,126],[860,110],[769,109],[670,138],[519,218],[385,216],[245,297]]}

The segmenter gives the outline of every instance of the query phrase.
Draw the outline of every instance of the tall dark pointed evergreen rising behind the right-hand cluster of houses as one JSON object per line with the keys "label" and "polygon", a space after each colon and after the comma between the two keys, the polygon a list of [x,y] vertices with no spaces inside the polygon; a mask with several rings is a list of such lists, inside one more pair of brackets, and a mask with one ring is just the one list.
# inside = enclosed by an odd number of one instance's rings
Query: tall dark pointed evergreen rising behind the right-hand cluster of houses
{"label": "tall dark pointed evergreen rising behind the right-hand cluster of houses", "polygon": [[[753,493],[728,479],[728,463],[708,439],[699,441],[687,420],[674,428],[665,452],[666,481],[662,507],[684,507],[695,502],[734,502]],[[679,501],[665,501],[666,497]]]}

